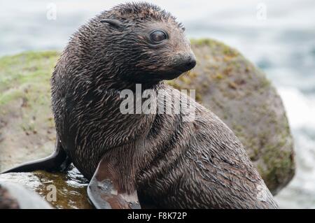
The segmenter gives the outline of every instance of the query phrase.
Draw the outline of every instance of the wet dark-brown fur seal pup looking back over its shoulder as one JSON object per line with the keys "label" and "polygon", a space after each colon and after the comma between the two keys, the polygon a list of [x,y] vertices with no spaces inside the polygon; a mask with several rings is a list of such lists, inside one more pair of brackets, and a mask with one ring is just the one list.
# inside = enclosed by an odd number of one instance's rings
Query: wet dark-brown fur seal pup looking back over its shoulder
{"label": "wet dark-brown fur seal pup looking back over its shoulder", "polygon": [[72,161],[90,179],[96,208],[277,208],[235,134],[200,104],[191,122],[121,113],[120,92],[136,94],[137,83],[165,92],[173,108],[185,96],[163,80],[195,64],[182,24],[158,6],[125,3],[97,15],[52,73],[55,153],[10,171],[58,171]]}

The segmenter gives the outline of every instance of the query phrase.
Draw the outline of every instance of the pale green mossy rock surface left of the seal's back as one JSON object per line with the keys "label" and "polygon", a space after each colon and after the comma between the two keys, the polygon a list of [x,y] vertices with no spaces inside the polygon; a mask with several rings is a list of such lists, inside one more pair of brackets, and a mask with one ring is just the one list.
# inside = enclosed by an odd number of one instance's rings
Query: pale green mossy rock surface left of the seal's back
{"label": "pale green mossy rock surface left of the seal's back", "polygon": [[0,169],[54,148],[50,76],[58,57],[48,51],[0,58]]}

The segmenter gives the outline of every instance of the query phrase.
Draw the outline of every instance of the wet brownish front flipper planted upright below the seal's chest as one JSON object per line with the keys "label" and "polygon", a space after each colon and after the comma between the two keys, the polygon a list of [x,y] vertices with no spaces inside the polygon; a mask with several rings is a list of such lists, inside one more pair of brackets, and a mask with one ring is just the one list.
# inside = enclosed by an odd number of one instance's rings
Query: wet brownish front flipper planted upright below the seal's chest
{"label": "wet brownish front flipper planted upright below the seal's chest", "polygon": [[137,190],[127,193],[119,186],[118,171],[103,157],[97,166],[90,184],[87,196],[97,209],[140,209]]}

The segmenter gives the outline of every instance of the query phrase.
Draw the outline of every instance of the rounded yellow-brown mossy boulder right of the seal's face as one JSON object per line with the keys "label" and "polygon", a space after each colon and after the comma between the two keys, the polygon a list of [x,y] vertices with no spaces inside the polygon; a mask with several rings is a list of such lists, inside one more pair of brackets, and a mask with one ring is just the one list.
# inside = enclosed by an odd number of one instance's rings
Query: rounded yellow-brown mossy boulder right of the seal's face
{"label": "rounded yellow-brown mossy boulder right of the seal's face", "polygon": [[169,81],[228,124],[273,194],[293,178],[293,138],[280,96],[260,69],[218,41],[192,41],[197,66]]}

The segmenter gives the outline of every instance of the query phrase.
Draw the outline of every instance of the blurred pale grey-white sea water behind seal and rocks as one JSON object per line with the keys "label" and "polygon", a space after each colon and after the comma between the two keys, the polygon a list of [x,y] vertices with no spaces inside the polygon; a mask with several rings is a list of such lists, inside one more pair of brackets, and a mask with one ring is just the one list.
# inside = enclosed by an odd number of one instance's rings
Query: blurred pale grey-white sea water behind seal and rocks
{"label": "blurred pale grey-white sea water behind seal and rocks", "polygon": [[[80,24],[123,2],[1,1],[0,56],[62,50]],[[315,1],[151,2],[176,15],[190,38],[223,41],[265,71],[286,107],[297,161],[276,200],[281,208],[315,208]]]}

